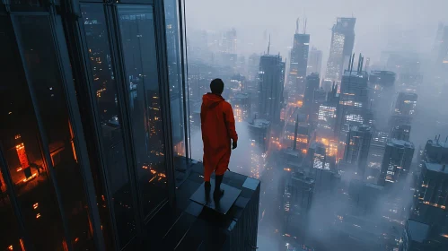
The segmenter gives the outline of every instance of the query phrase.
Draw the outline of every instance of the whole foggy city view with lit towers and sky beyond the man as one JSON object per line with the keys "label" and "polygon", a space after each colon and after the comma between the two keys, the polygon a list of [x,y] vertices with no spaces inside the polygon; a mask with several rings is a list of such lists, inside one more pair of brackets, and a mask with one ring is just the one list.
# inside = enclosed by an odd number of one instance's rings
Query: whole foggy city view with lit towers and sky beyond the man
{"label": "whole foggy city view with lit towers and sky beyond the man", "polygon": [[186,2],[192,157],[221,78],[240,137],[229,169],[261,180],[258,250],[448,250],[447,10]]}

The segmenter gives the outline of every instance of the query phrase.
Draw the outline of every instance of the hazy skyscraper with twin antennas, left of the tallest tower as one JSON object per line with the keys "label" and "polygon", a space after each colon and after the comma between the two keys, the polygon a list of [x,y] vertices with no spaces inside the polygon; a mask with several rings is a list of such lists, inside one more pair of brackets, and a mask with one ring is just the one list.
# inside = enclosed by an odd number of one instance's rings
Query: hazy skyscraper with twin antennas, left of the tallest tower
{"label": "hazy skyscraper with twin antennas, left of the tallest tower", "polygon": [[308,52],[310,50],[310,35],[299,33],[299,20],[294,34],[294,44],[291,49],[288,72],[289,96],[296,101],[298,95],[303,94],[304,82],[308,65]]}

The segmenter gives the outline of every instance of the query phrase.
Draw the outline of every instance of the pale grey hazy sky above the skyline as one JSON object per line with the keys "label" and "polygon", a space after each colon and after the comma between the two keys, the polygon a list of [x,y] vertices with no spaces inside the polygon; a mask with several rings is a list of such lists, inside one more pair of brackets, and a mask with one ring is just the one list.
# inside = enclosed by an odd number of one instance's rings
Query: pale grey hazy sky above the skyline
{"label": "pale grey hazy sky above the skyline", "polygon": [[[448,0],[185,0],[189,29],[238,33],[239,52],[263,53],[271,34],[271,51],[286,56],[292,46],[297,17],[308,18],[311,45],[329,53],[331,26],[336,17],[356,17],[355,52],[373,60],[391,49],[428,51],[438,22],[448,22]],[[301,31],[303,24],[301,23]]]}

